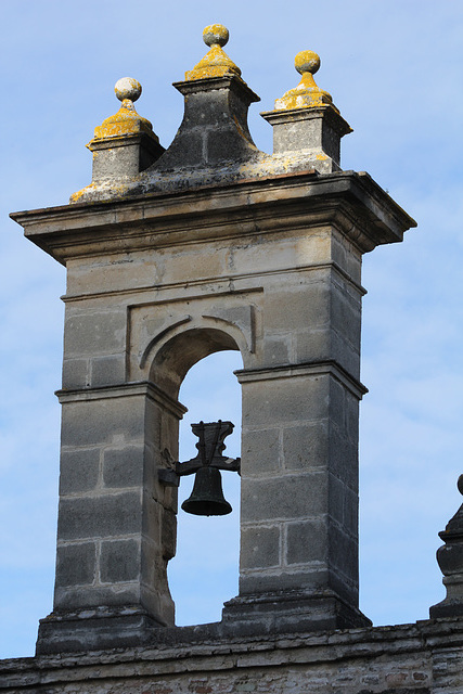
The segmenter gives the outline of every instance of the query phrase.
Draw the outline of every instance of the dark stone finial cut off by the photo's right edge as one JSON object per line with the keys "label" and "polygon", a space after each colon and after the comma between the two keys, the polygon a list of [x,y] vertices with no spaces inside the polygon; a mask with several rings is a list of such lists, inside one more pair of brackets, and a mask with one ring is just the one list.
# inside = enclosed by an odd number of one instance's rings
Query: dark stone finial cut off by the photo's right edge
{"label": "dark stone finial cut off by the photo's right edge", "polygon": [[[463,494],[463,475],[456,483]],[[437,563],[443,574],[442,582],[447,595],[442,602],[433,605],[429,616],[461,617],[463,616],[463,504],[449,520],[446,529],[439,532],[445,544],[437,550]]]}

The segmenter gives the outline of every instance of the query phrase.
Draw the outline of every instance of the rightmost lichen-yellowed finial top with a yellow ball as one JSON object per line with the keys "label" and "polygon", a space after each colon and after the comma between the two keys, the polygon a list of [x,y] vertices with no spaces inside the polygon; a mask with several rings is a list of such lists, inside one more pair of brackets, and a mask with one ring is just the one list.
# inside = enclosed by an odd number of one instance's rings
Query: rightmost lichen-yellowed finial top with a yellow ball
{"label": "rightmost lichen-yellowed finial top with a yellow ball", "polygon": [[300,51],[295,57],[294,65],[303,76],[303,79],[297,87],[290,89],[281,99],[276,99],[275,111],[307,108],[321,106],[322,104],[331,104],[336,108],[331,94],[320,89],[313,79],[313,75],[320,67],[319,55],[313,51]]}

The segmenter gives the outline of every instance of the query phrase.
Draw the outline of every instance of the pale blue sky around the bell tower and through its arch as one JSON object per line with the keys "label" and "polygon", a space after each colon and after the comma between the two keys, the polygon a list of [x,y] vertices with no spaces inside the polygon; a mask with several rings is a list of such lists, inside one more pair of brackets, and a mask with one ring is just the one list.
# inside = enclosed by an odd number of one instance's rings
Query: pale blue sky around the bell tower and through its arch
{"label": "pale blue sky around the bell tower and through its arch", "polygon": [[[294,55],[312,49],[319,86],[355,130],[343,168],[369,171],[419,221],[402,244],[364,257],[360,603],[376,625],[427,618],[443,597],[437,532],[462,501],[463,4],[3,0],[0,21],[0,657],[31,655],[52,607],[65,291],[64,269],[8,213],[65,204],[90,182],[85,144],[117,111],[119,77],[141,81],[138,111],[167,146],[183,111],[171,82],[203,56],[202,30],[215,22],[228,26],[226,50],[261,97],[249,117],[261,150],[272,145],[259,111],[297,83]],[[217,387],[223,358],[230,377]],[[234,358],[189,374],[189,421],[239,422]],[[214,397],[198,387],[204,369]],[[182,438],[185,458],[193,445]],[[239,434],[228,450],[239,454]],[[236,594],[237,532],[236,512],[180,518],[170,573],[179,624],[219,619]]]}

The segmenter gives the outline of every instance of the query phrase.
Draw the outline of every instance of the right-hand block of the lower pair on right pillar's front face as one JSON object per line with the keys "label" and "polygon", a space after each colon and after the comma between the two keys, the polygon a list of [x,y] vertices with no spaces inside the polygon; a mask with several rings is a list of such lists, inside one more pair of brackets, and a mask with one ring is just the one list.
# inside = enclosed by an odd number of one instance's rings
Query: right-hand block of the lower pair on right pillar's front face
{"label": "right-hand block of the lower pair on right pillar's front face", "polygon": [[327,562],[327,527],[325,518],[286,524],[286,563]]}

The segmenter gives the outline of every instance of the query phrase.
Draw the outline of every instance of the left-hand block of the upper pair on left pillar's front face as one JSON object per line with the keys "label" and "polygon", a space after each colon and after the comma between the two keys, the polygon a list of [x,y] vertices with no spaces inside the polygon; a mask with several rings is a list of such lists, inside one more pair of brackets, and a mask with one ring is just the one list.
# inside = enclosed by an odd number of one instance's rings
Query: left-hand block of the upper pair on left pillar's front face
{"label": "left-hand block of the upper pair on left pillar's front face", "polygon": [[60,465],[60,494],[90,491],[98,485],[100,450],[98,448],[62,451]]}

